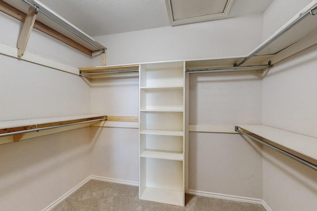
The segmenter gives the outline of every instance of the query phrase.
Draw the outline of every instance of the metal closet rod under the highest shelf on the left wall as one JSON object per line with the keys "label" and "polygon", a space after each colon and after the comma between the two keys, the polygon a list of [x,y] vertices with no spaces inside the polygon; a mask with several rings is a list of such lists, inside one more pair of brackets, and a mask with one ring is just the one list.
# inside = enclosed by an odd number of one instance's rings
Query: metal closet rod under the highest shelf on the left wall
{"label": "metal closet rod under the highest shelf on the left wall", "polygon": [[[51,18],[53,21],[55,21],[56,23],[58,23],[60,26],[64,27],[65,29],[67,29],[68,31],[70,31],[71,33],[73,33],[74,35],[78,36],[79,38],[83,39],[84,41],[88,42],[89,44],[91,44],[92,46],[98,48],[99,50],[101,50],[102,52],[106,53],[106,47],[102,48],[100,46],[97,45],[98,42],[96,42],[95,40],[87,37],[86,35],[83,35],[82,32],[76,30],[75,28],[69,28],[68,26],[66,26],[64,23],[62,23],[61,21],[59,21],[58,19],[56,19],[55,17],[53,17],[51,14],[48,14],[47,12],[43,11],[42,9],[40,9],[38,6],[33,5],[31,2],[29,2],[28,0],[22,0],[24,3],[28,4],[29,6],[31,6],[33,9],[35,9],[35,11],[39,11],[41,13],[43,13],[44,15],[46,15],[47,17]],[[84,37],[85,36],[85,37]],[[99,43],[98,43],[99,44]]]}

